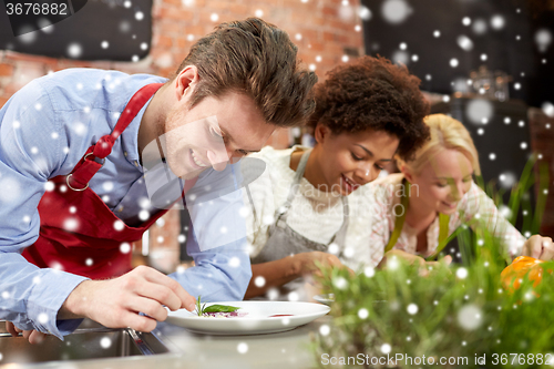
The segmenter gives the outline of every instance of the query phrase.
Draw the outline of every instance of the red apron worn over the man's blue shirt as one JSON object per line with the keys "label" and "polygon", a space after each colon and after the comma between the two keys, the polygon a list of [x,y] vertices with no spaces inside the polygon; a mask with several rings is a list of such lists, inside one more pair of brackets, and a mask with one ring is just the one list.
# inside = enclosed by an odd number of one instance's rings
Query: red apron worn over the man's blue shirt
{"label": "red apron worn over the man's blue shirt", "polygon": [[[89,147],[69,175],[51,180],[55,187],[39,203],[39,239],[23,256],[41,268],[102,279],[131,270],[131,245],[167,211],[153,214],[137,227],[124,224],[91,188],[89,181],[102,167],[120,134],[144,104],[163,85],[153,83],[138,90],[125,106],[113,132]],[[189,188],[196,181],[187,181]]]}

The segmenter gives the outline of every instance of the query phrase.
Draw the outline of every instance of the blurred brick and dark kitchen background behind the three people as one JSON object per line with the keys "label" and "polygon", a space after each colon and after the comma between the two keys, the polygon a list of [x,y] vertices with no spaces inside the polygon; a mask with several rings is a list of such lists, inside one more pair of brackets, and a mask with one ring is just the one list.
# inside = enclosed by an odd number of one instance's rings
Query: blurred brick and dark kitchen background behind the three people
{"label": "blurred brick and dark kitchen background behind the three people", "polygon": [[[554,0],[60,0],[65,16],[28,19],[9,16],[10,1],[0,2],[0,106],[66,68],[168,76],[216,24],[259,17],[289,33],[320,80],[365,54],[406,64],[432,111],[468,126],[485,182],[510,189],[535,153],[554,183]],[[291,129],[267,144],[312,142]],[[541,230],[552,236],[546,195]],[[135,245],[136,263],[175,270],[187,232],[186,213],[168,212]]]}

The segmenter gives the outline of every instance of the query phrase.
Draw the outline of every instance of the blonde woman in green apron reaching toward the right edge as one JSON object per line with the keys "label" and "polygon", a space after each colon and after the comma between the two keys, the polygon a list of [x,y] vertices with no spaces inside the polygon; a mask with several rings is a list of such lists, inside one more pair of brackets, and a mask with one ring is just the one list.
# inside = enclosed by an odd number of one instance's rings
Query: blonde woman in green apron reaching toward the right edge
{"label": "blonde woman in green apron reaching toward the right edge", "polygon": [[424,122],[431,139],[413,160],[397,157],[401,173],[370,185],[377,199],[375,216],[380,219],[372,225],[371,247],[377,245],[382,254],[394,248],[428,257],[462,224],[473,228],[484,224],[512,257],[552,259],[550,237],[525,239],[473,182],[473,175],[481,174],[479,155],[463,124],[443,114],[429,115]]}

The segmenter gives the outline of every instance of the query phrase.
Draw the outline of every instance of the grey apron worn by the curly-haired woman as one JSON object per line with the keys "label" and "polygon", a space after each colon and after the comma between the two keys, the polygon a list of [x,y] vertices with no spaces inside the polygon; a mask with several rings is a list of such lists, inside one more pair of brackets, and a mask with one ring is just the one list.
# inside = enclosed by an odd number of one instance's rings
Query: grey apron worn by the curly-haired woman
{"label": "grey apron worn by the curly-haired woman", "polygon": [[[347,196],[341,196],[343,208],[343,221],[340,229],[332,236],[328,244],[319,244],[310,240],[287,225],[288,211],[293,201],[298,192],[300,181],[304,177],[306,163],[310,155],[311,150],[306,151],[300,158],[300,163],[296,168],[295,178],[290,185],[287,202],[275,212],[275,223],[269,226],[269,237],[261,252],[252,259],[252,264],[259,264],[266,262],[278,260],[284,257],[310,252],[327,252],[331,244],[338,246],[339,258],[345,250],[346,234],[348,229],[348,199]],[[280,294],[288,294],[293,290],[299,289],[304,285],[302,278],[297,278],[285,286],[283,286]]]}

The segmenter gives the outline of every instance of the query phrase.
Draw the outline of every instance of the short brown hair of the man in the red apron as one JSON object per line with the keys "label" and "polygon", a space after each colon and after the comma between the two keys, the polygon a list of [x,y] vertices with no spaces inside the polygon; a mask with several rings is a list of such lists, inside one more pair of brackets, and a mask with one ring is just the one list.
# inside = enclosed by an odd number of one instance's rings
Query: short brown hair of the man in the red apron
{"label": "short brown hair of the man in the red apron", "polygon": [[317,75],[300,68],[288,34],[261,19],[217,25],[192,47],[175,75],[186,65],[195,65],[199,75],[191,107],[206,96],[238,92],[277,126],[301,124],[314,112]]}

